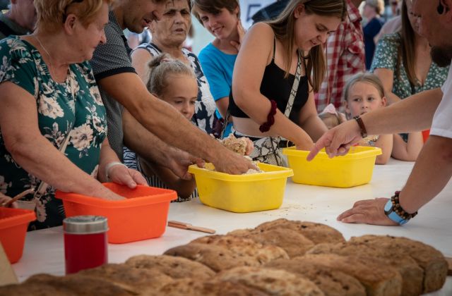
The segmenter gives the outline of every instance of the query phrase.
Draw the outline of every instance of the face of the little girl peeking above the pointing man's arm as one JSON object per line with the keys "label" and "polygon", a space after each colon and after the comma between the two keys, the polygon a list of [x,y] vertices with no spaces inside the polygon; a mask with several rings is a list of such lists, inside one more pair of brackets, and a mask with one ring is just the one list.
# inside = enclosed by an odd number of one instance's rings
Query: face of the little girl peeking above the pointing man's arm
{"label": "face of the little girl peeking above the pointing man's arm", "polygon": [[379,91],[369,82],[356,82],[350,87],[345,108],[352,116],[386,106],[386,97],[381,97]]}

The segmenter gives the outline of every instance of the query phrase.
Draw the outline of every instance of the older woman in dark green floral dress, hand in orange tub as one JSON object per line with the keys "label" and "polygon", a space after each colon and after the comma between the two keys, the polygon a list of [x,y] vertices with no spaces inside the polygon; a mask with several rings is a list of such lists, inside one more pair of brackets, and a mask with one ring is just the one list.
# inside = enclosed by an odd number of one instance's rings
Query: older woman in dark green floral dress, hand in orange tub
{"label": "older woman in dark green floral dress, hand in orange tub", "polygon": [[0,192],[13,196],[49,184],[41,196],[23,197],[37,211],[30,229],[61,225],[56,189],[122,199],[99,181],[145,184],[109,147],[105,108],[87,62],[106,41],[109,2],[35,0],[35,32],[0,42]]}

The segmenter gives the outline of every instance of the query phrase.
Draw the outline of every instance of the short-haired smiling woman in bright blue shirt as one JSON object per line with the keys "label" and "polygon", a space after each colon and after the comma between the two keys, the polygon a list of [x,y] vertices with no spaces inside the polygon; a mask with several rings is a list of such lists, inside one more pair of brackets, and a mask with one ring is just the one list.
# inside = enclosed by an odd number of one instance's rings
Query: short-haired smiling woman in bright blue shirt
{"label": "short-haired smiling woman in bright blue shirt", "polygon": [[[232,71],[244,37],[238,0],[194,0],[193,13],[215,39],[199,53],[199,60],[215,99],[218,119],[225,118],[231,92]],[[230,133],[228,125],[225,135]]]}

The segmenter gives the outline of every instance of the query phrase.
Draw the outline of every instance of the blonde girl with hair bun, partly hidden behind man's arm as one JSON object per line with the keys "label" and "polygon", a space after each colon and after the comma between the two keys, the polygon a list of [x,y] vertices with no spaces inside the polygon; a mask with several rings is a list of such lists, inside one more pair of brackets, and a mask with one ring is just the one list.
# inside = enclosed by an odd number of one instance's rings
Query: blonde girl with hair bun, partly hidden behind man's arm
{"label": "blonde girl with hair bun, partly hidden behind man's arm", "polygon": [[[160,54],[148,63],[149,77],[146,87],[155,97],[166,101],[185,118],[191,121],[195,113],[198,97],[198,82],[194,71],[182,61],[171,58],[169,54]],[[177,191],[177,202],[185,202],[196,196],[195,180],[184,180],[168,168],[150,164],[136,154],[124,154],[124,161],[136,160],[138,171],[145,175],[150,186],[170,188]],[[127,158],[127,159],[126,159]]]}

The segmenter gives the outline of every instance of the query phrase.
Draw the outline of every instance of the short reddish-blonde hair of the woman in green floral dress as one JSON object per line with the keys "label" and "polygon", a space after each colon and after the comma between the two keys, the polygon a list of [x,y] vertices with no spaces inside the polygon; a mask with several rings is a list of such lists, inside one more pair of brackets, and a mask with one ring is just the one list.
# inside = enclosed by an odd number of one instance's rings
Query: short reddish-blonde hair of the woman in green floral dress
{"label": "short reddish-blonde hair of the woman in green floral dress", "polygon": [[83,25],[93,21],[102,4],[113,4],[115,0],[35,0],[36,27],[54,32],[66,21],[69,13],[80,18]]}

